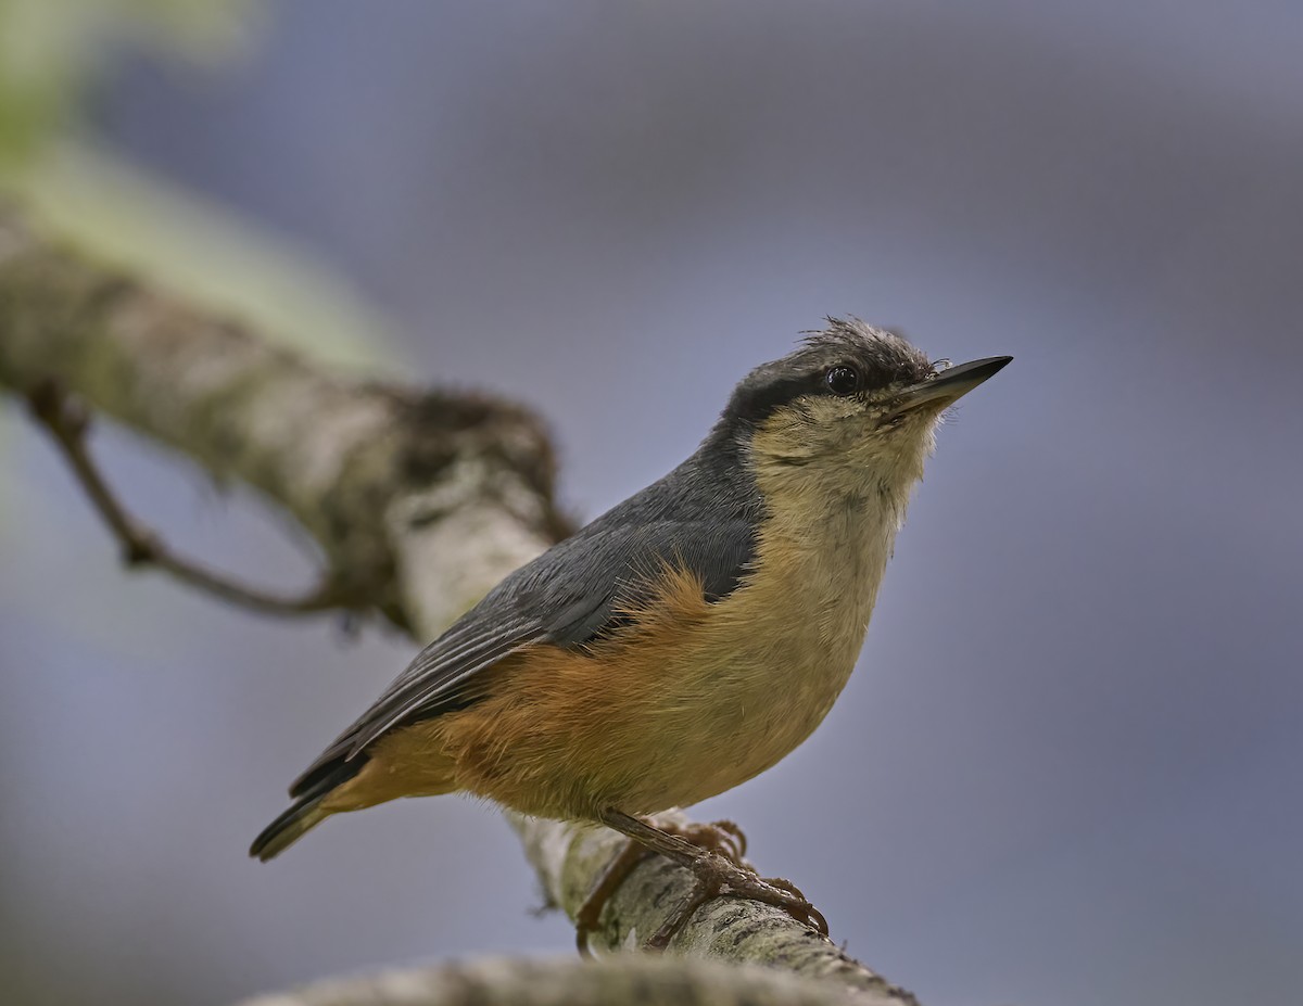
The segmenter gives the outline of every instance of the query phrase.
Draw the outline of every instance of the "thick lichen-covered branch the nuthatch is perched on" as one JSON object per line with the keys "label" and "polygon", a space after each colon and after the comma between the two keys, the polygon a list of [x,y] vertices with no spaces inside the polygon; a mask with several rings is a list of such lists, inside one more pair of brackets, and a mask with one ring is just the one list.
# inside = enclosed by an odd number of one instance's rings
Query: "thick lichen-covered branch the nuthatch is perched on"
{"label": "thick lichen-covered branch the nuthatch is perched on", "polygon": [[[43,240],[0,205],[0,391],[30,395],[50,381],[214,476],[261,490],[313,536],[334,575],[365,584],[371,606],[418,642],[567,533],[552,499],[546,434],[524,409],[327,373]],[[623,841],[547,821],[513,825],[545,889],[571,917]],[[592,942],[637,945],[688,878],[672,864],[644,863]],[[706,904],[671,950],[834,979],[872,1002],[913,1002],[827,940],[753,902]],[[364,985],[292,1001],[443,1001],[375,998]]]}

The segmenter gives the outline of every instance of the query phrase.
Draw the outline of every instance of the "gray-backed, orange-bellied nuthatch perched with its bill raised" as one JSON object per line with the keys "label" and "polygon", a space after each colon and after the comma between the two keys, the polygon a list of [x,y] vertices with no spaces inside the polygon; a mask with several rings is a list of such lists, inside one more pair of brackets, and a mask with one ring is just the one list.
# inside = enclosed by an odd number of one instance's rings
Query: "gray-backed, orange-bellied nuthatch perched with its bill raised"
{"label": "gray-backed, orange-bellied nuthatch perched with its bill raised", "polygon": [[691,867],[706,895],[817,917],[737,850],[730,863],[636,816],[722,794],[818,726],[942,412],[1010,358],[934,366],[893,332],[829,319],[751,371],[688,460],[426,646],[294,782],[297,801],[250,854],[268,860],[331,814],[469,792],[614,827]]}

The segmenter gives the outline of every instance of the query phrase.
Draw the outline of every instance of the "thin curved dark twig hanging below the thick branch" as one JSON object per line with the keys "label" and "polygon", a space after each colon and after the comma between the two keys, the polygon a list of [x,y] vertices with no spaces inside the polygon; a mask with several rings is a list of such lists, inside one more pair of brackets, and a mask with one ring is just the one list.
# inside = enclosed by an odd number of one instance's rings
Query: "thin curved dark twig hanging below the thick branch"
{"label": "thin curved dark twig hanging below the thick branch", "polygon": [[55,381],[43,381],[27,392],[33,417],[50,433],[68,460],[95,512],[117,538],[122,563],[152,566],[181,582],[240,607],[275,615],[310,615],[331,609],[358,612],[367,607],[365,592],[341,572],[327,571],[301,594],[280,594],[244,584],[197,559],[176,553],[162,537],[126,512],[86,444],[90,413]]}

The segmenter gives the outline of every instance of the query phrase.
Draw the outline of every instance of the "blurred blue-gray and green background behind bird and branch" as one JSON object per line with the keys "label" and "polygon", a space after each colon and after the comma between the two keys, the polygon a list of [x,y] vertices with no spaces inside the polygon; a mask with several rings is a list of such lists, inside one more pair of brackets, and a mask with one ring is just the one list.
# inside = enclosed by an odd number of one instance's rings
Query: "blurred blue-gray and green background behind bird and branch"
{"label": "blurred blue-gray and green background behind bird and branch", "polygon": [[[0,0],[0,185],[337,366],[537,407],[584,516],[827,313],[1012,353],[827,722],[698,813],[928,1006],[1286,1003],[1300,50],[1286,0]],[[96,446],[173,541],[306,581],[255,500]],[[128,576],[12,400],[0,464],[5,1002],[568,953],[472,801],[248,860],[413,646]]]}

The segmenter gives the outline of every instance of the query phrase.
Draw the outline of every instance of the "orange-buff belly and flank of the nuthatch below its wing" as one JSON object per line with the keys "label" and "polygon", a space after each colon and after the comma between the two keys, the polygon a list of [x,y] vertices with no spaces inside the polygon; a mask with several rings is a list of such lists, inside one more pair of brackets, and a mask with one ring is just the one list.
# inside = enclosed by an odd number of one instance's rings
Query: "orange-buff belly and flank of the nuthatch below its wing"
{"label": "orange-buff belly and flank of the nuthatch below its wing", "polygon": [[770,768],[831,708],[863,623],[838,640],[757,633],[745,589],[710,605],[692,577],[668,586],[620,633],[521,650],[483,672],[474,705],[383,735],[326,808],[465,791],[592,820],[691,805]]}

